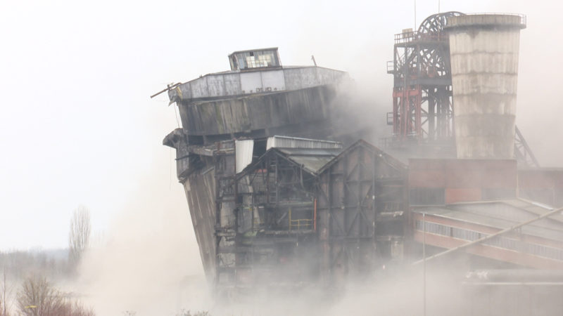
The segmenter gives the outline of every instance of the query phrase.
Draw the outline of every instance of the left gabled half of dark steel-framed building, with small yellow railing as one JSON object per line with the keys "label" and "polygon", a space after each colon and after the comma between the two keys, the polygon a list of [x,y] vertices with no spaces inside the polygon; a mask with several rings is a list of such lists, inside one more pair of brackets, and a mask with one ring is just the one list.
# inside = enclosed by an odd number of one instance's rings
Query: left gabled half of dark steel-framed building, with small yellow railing
{"label": "left gabled half of dark steel-framed building, with small yellow railing", "polygon": [[277,150],[239,174],[228,160],[234,157],[217,157],[215,166],[216,285],[299,282],[299,275],[315,275],[309,264],[314,253],[304,250],[314,239],[315,176]]}

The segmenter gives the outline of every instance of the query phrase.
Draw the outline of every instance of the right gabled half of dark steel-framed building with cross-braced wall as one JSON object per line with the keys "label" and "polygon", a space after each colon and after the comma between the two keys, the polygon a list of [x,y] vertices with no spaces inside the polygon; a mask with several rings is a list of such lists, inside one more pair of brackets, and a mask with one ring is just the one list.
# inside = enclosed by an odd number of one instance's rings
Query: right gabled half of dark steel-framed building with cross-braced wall
{"label": "right gabled half of dark steel-framed building with cross-braced wall", "polygon": [[362,141],[324,167],[317,191],[321,270],[327,283],[402,260],[405,170]]}

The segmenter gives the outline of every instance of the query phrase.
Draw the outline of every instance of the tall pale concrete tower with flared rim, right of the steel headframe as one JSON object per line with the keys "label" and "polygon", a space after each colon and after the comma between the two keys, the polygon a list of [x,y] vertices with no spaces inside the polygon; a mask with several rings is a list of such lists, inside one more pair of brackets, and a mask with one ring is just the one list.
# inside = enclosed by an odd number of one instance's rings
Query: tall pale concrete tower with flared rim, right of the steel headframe
{"label": "tall pale concrete tower with flared rim, right of the steel headframe", "polygon": [[455,143],[460,159],[512,159],[523,15],[448,18]]}

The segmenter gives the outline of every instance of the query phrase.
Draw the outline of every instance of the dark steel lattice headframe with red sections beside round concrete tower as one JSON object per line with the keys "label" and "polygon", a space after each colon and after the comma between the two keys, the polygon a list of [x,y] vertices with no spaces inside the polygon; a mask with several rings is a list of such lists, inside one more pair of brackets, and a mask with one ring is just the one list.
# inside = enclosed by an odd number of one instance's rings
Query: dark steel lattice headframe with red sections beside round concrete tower
{"label": "dark steel lattice headframe with red sections beside round concrete tower", "polygon": [[446,12],[430,15],[415,32],[395,35],[393,61],[393,125],[395,140],[418,142],[447,140],[453,136],[452,75],[446,18],[462,15]]}

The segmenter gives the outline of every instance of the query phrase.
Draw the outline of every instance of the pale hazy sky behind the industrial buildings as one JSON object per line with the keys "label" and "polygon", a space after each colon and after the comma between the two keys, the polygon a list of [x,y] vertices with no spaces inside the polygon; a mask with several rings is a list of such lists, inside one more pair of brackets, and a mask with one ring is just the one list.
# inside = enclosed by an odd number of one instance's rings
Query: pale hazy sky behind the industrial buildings
{"label": "pale hazy sky behind the industrial buildings", "polygon": [[[227,70],[232,51],[279,46],[284,65],[346,70],[391,111],[393,34],[415,1],[2,1],[0,250],[67,245],[72,210],[94,232],[141,195],[185,209],[163,137],[177,126],[172,81]],[[416,1],[417,23],[438,1]],[[563,166],[559,1],[442,0],[441,11],[528,15],[521,32],[517,124],[540,162]],[[374,123],[384,118],[374,118]],[[384,137],[384,136],[381,136]],[[172,154],[173,157],[173,154]],[[172,176],[171,176],[172,173]],[[148,207],[148,206],[146,206]]]}

